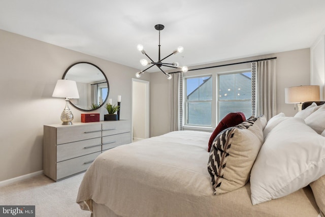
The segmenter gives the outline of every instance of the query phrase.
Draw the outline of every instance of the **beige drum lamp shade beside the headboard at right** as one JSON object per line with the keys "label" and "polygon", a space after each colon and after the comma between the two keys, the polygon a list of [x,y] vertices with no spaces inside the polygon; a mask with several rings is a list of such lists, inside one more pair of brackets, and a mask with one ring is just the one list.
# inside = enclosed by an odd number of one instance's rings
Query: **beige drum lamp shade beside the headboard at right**
{"label": "beige drum lamp shade beside the headboard at right", "polygon": [[319,86],[294,86],[285,88],[285,103],[319,101]]}

